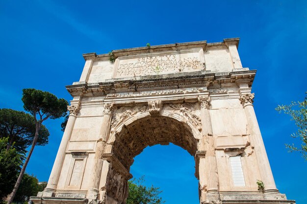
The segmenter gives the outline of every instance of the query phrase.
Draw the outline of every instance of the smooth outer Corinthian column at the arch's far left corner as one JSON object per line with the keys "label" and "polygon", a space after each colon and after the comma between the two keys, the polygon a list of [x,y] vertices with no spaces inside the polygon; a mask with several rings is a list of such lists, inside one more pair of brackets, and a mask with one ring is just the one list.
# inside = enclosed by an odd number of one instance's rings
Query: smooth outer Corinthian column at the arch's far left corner
{"label": "smooth outer Corinthian column at the arch's far left corner", "polygon": [[54,192],[56,190],[57,183],[60,178],[63,162],[66,155],[66,148],[67,144],[70,140],[70,137],[72,135],[74,125],[76,122],[77,114],[80,111],[80,105],[71,105],[67,106],[67,109],[69,111],[69,118],[66,124],[66,128],[62,137],[62,141],[59,147],[59,150],[57,151],[56,158],[51,170],[50,178],[47,184],[47,187],[45,188],[43,192],[43,196],[54,196]]}

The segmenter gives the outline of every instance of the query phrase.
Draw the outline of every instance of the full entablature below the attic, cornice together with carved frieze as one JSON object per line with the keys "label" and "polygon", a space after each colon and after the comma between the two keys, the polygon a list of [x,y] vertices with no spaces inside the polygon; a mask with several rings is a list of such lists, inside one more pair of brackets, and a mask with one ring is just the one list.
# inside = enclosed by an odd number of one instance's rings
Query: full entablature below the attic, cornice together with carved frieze
{"label": "full entablature below the attic, cornice together with carved frieze", "polygon": [[[92,84],[87,84],[86,82],[75,82],[73,85],[66,86],[66,89],[73,97],[84,94],[84,96],[127,98],[131,96],[138,96],[135,95],[136,92],[142,92],[141,95],[146,96],[148,94],[156,95],[156,93],[159,95],[173,95],[193,92],[199,93],[207,90],[209,92],[211,90],[212,94],[219,94],[223,93],[223,87],[238,87],[238,84],[242,83],[248,84],[248,86],[251,87],[255,75],[256,70],[248,70],[248,68],[241,71],[220,73],[197,71],[190,73],[162,74],[125,79],[110,79],[107,82]],[[185,90],[180,91],[178,89]],[[153,92],[146,93],[146,91]]]}

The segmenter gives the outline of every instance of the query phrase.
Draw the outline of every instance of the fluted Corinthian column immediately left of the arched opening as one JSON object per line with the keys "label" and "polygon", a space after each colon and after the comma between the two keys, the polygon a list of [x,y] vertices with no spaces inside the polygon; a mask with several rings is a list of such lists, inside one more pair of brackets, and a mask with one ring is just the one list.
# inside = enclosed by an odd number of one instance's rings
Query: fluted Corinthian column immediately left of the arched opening
{"label": "fluted Corinthian column immediately left of the arched opening", "polygon": [[96,153],[95,153],[95,163],[92,173],[91,179],[91,188],[89,189],[88,199],[89,203],[97,203],[97,199],[99,196],[99,182],[100,176],[102,173],[102,153],[104,151],[104,147],[106,145],[107,139],[110,134],[110,125],[112,120],[112,107],[113,104],[106,103],[104,104],[104,115],[102,120],[102,128],[100,131],[100,137],[96,145]]}

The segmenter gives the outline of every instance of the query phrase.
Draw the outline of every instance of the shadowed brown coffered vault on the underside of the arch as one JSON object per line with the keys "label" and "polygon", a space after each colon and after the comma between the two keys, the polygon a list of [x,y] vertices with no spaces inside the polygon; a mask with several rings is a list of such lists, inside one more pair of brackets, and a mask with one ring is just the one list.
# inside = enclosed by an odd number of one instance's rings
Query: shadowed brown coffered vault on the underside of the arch
{"label": "shadowed brown coffered vault on the underside of the arch", "polygon": [[[185,149],[193,156],[193,159],[198,150],[198,139],[193,135],[194,127],[174,117],[148,114],[135,118],[132,122],[126,123],[127,125],[124,124],[119,132],[114,133],[115,137],[110,139],[109,144],[112,145],[111,153],[113,157],[121,163],[121,166],[127,172],[130,172],[130,166],[133,164],[134,158],[148,146],[173,143]],[[191,168],[194,168],[194,166],[195,163]],[[120,172],[116,167],[114,167],[114,170]],[[127,182],[128,179],[126,177],[124,182]],[[127,185],[123,186],[127,188]],[[118,188],[117,191],[119,191]],[[127,189],[123,191],[125,196],[128,196]],[[196,186],[195,191],[198,192]],[[110,192],[110,190],[107,190],[107,194],[116,195],[115,192]],[[124,201],[125,198],[122,197],[121,200]]]}

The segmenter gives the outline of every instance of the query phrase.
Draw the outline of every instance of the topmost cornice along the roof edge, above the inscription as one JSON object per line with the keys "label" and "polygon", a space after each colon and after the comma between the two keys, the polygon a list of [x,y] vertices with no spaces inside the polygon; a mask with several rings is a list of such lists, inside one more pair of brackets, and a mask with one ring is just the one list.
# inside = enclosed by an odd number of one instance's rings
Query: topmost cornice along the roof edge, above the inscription
{"label": "topmost cornice along the roof edge, above the inscription", "polygon": [[[159,53],[159,52],[167,52],[167,51],[179,51],[179,50],[187,50],[193,48],[225,48],[229,45],[239,45],[239,38],[227,38],[224,39],[223,42],[218,43],[207,43],[207,41],[195,41],[188,43],[175,43],[175,44],[166,44],[166,45],[152,45],[150,47],[133,47],[128,49],[117,49],[112,50],[115,58],[129,56],[129,55],[139,55],[139,54],[151,54]],[[108,60],[109,54],[99,54],[97,55],[95,52],[83,54],[83,58],[85,60]]]}

